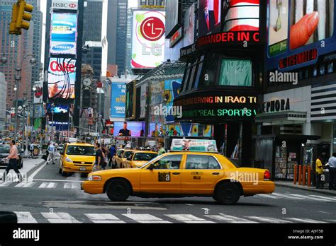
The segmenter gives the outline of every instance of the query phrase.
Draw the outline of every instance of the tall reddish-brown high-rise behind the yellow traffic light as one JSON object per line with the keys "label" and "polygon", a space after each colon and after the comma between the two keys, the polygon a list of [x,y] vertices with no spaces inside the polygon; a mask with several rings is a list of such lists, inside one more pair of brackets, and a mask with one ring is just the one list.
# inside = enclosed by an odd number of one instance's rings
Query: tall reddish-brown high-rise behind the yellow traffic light
{"label": "tall reddish-brown high-rise behind the yellow traffic light", "polygon": [[32,66],[29,64],[30,59],[23,61],[19,98],[23,98],[25,90],[31,98],[32,82],[40,78],[43,13],[40,11],[40,0],[28,0],[27,2],[34,6],[29,30],[23,30],[22,35],[9,35],[12,6],[16,0],[0,0],[0,53],[11,54],[7,56],[7,64],[0,66],[0,71],[5,74],[7,81],[6,107],[15,105],[15,69],[21,66],[23,57],[27,54],[34,54],[38,62]]}

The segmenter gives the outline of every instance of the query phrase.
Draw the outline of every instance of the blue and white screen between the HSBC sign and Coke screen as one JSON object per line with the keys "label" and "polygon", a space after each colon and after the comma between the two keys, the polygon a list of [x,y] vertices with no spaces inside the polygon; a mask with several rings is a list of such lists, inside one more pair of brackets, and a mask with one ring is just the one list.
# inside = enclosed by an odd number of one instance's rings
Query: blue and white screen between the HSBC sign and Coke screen
{"label": "blue and white screen between the HSBC sign and Coke screen", "polygon": [[77,14],[52,13],[50,54],[76,54]]}

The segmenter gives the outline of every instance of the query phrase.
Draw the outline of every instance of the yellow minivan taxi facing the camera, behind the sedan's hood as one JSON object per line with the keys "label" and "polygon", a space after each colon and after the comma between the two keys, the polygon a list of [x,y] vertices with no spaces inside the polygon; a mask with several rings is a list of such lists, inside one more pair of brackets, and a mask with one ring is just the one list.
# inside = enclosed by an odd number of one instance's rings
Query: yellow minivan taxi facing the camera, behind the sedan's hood
{"label": "yellow minivan taxi facing the camera, behind the sedan's hood", "polygon": [[60,151],[60,174],[67,176],[74,172],[91,172],[96,159],[95,155],[96,151],[92,144],[85,142],[66,144]]}

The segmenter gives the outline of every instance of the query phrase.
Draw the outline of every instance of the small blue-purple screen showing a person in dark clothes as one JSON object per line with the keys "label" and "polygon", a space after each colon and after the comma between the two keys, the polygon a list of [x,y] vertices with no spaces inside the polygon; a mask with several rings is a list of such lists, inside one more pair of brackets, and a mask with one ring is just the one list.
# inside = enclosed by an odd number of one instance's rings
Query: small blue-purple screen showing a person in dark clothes
{"label": "small blue-purple screen showing a person in dark clothes", "polygon": [[113,136],[144,136],[145,122],[114,122]]}

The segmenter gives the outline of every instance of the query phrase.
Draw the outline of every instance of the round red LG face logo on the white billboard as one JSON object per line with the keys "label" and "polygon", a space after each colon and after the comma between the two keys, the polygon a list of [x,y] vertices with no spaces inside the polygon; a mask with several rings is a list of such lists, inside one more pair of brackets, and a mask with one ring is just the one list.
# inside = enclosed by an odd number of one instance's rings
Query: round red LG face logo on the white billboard
{"label": "round red LG face logo on the white billboard", "polygon": [[142,21],[140,31],[149,41],[157,41],[164,35],[164,23],[157,17],[149,17]]}

